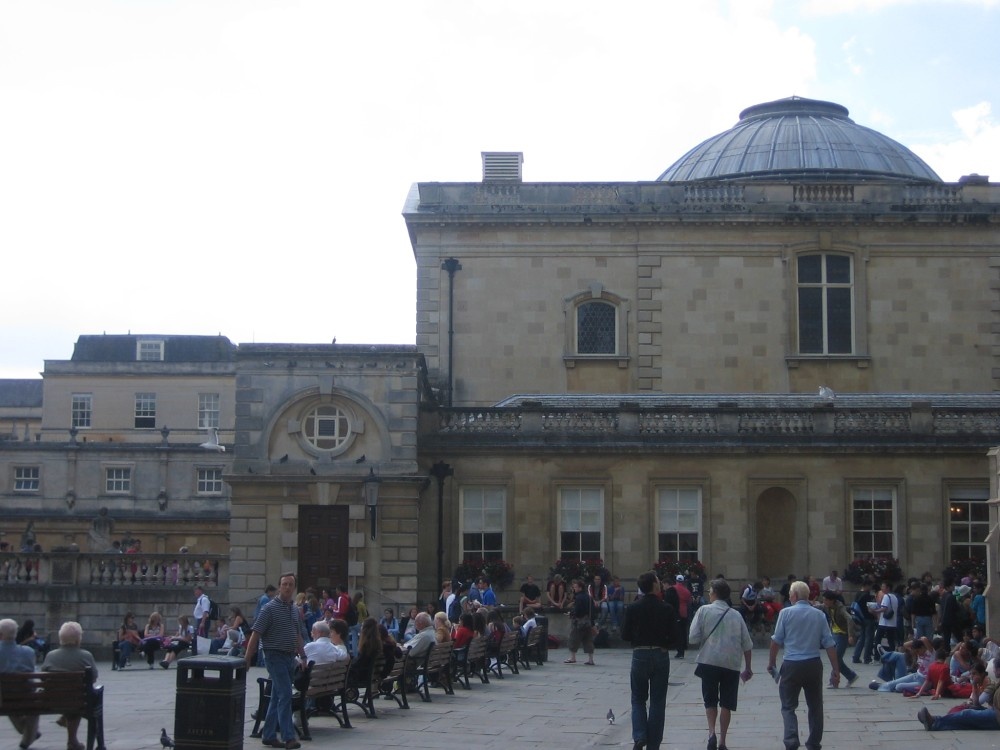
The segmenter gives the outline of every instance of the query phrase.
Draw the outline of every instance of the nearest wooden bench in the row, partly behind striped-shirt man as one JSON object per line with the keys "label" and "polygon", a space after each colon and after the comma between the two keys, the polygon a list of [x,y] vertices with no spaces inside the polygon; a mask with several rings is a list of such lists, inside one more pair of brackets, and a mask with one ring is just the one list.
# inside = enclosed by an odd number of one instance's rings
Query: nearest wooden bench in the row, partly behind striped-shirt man
{"label": "nearest wooden bench in the row, partly behind striped-shirt man", "polygon": [[[302,739],[312,739],[309,733],[310,716],[319,714],[333,716],[342,728],[351,728],[351,720],[347,716],[346,697],[347,671],[350,666],[350,659],[328,664],[309,662],[302,673],[295,678],[292,713],[299,714],[300,726],[295,727],[295,731]],[[260,699],[257,710],[253,713],[254,725],[253,731],[250,732],[251,737],[261,736],[261,725],[267,718],[267,709],[271,703],[270,678],[258,677],[257,686],[260,690]],[[307,708],[310,698],[316,702],[312,709]]]}

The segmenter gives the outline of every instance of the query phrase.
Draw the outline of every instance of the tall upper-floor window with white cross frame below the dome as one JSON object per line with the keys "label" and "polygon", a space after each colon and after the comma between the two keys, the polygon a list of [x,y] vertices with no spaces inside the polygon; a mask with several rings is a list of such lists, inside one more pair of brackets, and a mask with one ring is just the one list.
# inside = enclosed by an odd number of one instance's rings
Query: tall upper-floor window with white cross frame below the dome
{"label": "tall upper-floor window with white cross frame below the dome", "polygon": [[798,257],[799,353],[854,351],[854,285],[849,255]]}

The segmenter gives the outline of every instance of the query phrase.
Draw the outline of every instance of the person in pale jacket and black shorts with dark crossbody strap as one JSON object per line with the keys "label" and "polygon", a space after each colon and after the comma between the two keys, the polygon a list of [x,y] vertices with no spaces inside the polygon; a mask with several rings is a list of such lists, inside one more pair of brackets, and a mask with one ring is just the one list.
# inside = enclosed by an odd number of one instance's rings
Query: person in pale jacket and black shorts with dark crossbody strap
{"label": "person in pale jacket and black shorts with dark crossbody strap", "polygon": [[[700,644],[695,672],[701,677],[701,697],[705,701],[708,719],[708,750],[726,750],[726,735],[732,712],[736,710],[740,679],[753,677],[750,658],[753,640],[746,622],[739,612],[729,606],[729,584],[724,580],[712,581],[709,604],[694,613],[689,641]],[[740,672],[740,662],[743,672]],[[719,713],[719,706],[722,712]],[[719,736],[715,722],[719,722]]]}

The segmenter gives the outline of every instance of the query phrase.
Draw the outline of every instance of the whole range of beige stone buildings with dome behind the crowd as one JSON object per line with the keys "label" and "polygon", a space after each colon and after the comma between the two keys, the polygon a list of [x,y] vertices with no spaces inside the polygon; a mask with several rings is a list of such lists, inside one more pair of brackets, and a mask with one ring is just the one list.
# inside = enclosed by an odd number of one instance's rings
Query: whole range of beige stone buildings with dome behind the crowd
{"label": "whole range of beige stone buildings with dome behind the crowd", "polygon": [[[43,404],[0,384],[5,539],[32,521],[46,550],[8,553],[0,596],[176,608],[204,580],[248,605],[291,569],[401,607],[472,557],[628,582],[985,556],[1000,188],[799,98],[652,181],[483,158],[406,199],[416,346],[82,336]],[[88,551],[101,508],[148,571]]]}

